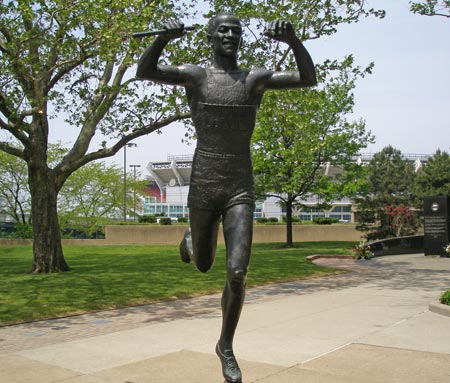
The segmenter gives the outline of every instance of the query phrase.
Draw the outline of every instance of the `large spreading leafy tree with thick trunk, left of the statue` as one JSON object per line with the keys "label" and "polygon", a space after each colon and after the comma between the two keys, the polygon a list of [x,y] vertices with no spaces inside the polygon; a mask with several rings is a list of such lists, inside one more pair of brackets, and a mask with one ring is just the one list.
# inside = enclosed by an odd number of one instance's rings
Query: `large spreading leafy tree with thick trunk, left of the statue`
{"label": "large spreading leafy tree with thick trunk, left of the statue", "polygon": [[[208,4],[208,3],[206,3]],[[303,40],[330,35],[343,23],[384,13],[364,0],[311,2],[193,0],[24,0],[0,4],[0,150],[27,163],[34,230],[34,272],[67,270],[56,211],[58,193],[74,171],[114,155],[134,138],[189,116],[182,92],[136,81],[133,67],[146,43],[131,37],[169,18],[231,10],[246,25],[244,65],[293,66],[285,46],[261,38],[267,21],[293,22]],[[167,46],[163,62],[205,63],[206,28]],[[195,47],[194,49],[192,47]],[[77,138],[50,164],[51,129],[64,119]],[[187,122],[189,126],[189,122]],[[104,138],[91,147],[94,135]],[[50,236],[48,233],[52,233]]]}

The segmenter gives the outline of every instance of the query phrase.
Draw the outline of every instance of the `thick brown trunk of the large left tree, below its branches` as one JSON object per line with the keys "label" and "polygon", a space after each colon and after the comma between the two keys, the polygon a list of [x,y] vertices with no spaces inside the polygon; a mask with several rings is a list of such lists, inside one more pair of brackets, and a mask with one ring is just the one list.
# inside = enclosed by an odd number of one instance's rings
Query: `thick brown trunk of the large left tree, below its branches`
{"label": "thick brown trunk of the large left tree, below its branches", "polygon": [[34,233],[32,273],[68,271],[62,251],[57,213],[59,188],[47,164],[29,169],[31,216]]}

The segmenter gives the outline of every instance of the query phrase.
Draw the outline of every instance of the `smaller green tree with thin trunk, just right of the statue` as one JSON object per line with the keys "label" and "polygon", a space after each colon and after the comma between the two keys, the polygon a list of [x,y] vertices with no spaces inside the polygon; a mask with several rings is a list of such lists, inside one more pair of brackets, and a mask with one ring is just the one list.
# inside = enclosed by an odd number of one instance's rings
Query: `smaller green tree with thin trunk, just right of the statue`
{"label": "smaller green tree with thin trunk, just right of the statue", "polygon": [[286,209],[289,246],[292,209],[302,199],[313,194],[329,202],[352,194],[349,173],[327,169],[353,166],[353,157],[373,141],[364,121],[348,118],[356,79],[371,69],[355,67],[351,56],[326,62],[319,66],[318,89],[272,92],[264,99],[253,138],[256,184],[259,194],[278,198]]}

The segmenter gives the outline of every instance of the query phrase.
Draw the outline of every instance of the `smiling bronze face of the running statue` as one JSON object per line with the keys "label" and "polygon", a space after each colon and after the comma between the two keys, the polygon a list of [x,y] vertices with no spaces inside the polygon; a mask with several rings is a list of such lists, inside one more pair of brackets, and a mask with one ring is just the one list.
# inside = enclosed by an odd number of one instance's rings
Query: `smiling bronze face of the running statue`
{"label": "smiling bronze face of the running statue", "polygon": [[210,36],[214,52],[224,56],[237,56],[242,40],[239,19],[232,15],[222,15],[216,18],[214,24],[214,32]]}

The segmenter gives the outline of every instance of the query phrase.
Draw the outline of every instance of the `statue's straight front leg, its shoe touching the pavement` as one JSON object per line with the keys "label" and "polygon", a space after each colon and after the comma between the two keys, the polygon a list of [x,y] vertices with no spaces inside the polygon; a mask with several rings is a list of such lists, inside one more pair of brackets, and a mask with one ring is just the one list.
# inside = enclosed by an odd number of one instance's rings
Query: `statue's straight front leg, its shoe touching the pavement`
{"label": "statue's straight front leg, its shoe touching the pavement", "polygon": [[223,217],[227,248],[227,281],[222,295],[222,331],[216,353],[228,382],[241,382],[242,375],[233,354],[233,338],[245,298],[245,282],[253,233],[253,207],[229,208]]}

